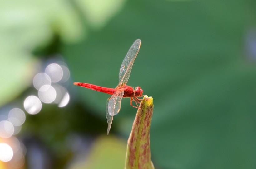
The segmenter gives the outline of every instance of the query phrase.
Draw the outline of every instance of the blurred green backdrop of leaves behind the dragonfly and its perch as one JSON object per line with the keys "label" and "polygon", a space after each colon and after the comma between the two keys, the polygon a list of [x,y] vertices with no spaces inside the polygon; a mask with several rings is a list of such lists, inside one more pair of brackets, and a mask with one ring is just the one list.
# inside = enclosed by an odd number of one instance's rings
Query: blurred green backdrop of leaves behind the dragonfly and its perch
{"label": "blurred green backdrop of leaves behind the dragonfly and its perch", "polygon": [[70,71],[68,105],[43,103],[14,136],[26,147],[24,165],[0,166],[124,168],[135,108],[123,99],[107,136],[109,95],[72,84],[116,87],[140,38],[127,85],[154,99],[155,168],[255,168],[255,9],[253,0],[0,1],[0,115],[24,110],[49,63]]}

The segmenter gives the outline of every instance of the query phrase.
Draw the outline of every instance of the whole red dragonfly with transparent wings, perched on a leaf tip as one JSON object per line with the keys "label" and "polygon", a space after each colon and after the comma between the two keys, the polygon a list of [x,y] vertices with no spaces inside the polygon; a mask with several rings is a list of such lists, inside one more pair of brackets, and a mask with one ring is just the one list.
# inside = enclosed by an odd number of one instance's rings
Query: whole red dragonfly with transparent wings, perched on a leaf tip
{"label": "whole red dragonfly with transparent wings, perched on a leaf tip", "polygon": [[107,99],[106,103],[106,116],[107,116],[107,123],[108,123],[108,129],[107,134],[109,134],[111,124],[113,121],[113,116],[116,115],[121,108],[121,100],[123,97],[130,97],[130,104],[132,105],[132,101],[135,101],[136,106],[133,106],[135,108],[138,108],[138,103],[140,103],[140,100],[138,97],[142,96],[143,90],[140,87],[135,87],[133,89],[130,86],[127,86],[126,83],[130,77],[131,68],[133,65],[133,62],[140,50],[141,40],[137,39],[130,47],[128,53],[126,54],[125,59],[123,60],[123,63],[120,68],[119,72],[119,83],[116,88],[108,88],[108,87],[101,87],[96,86],[93,84],[88,83],[79,83],[75,82],[74,85],[86,87],[92,90],[96,90],[99,92],[111,94],[112,96]]}

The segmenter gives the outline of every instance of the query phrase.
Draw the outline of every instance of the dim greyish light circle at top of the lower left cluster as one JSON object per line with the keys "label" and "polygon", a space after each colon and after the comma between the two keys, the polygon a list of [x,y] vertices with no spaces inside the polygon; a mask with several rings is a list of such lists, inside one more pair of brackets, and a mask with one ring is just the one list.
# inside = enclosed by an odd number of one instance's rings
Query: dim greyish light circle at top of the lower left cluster
{"label": "dim greyish light circle at top of the lower left cluster", "polygon": [[9,121],[14,125],[14,126],[20,126],[25,122],[26,116],[25,113],[18,108],[14,108],[10,110],[9,112]]}

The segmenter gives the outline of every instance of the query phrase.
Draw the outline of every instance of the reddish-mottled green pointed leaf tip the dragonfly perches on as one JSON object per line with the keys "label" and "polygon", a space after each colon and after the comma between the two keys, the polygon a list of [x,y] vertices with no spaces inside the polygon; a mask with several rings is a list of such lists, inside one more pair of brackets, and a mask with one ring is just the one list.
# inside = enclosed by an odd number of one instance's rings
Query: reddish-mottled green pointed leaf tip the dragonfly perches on
{"label": "reddish-mottled green pointed leaf tip the dragonfly perches on", "polygon": [[153,98],[144,96],[127,143],[126,169],[154,169],[149,136],[153,107]]}

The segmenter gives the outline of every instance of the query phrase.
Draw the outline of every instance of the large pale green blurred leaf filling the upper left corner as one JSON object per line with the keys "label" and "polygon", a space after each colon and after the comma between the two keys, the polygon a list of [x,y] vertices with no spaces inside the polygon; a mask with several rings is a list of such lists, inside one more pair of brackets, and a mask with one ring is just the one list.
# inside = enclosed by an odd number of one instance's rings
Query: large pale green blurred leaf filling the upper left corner
{"label": "large pale green blurred leaf filling the upper left corner", "polygon": [[32,50],[50,43],[54,34],[74,42],[83,31],[77,13],[62,0],[0,1],[0,22],[0,105],[17,97],[40,71]]}

